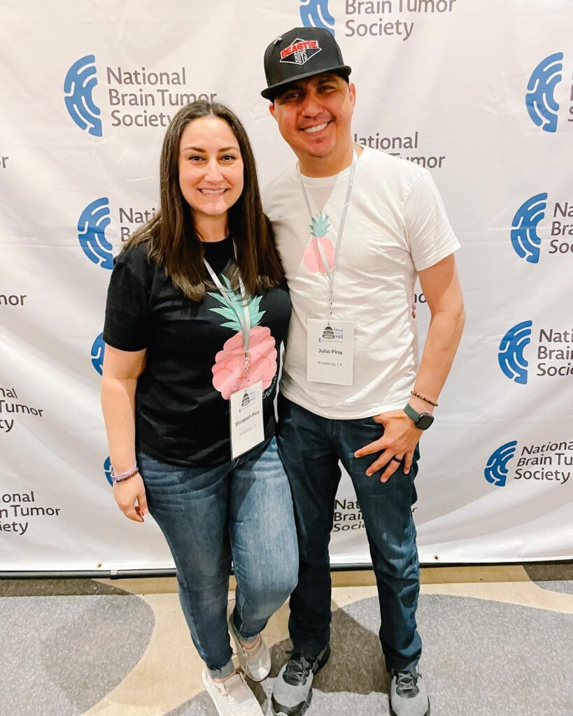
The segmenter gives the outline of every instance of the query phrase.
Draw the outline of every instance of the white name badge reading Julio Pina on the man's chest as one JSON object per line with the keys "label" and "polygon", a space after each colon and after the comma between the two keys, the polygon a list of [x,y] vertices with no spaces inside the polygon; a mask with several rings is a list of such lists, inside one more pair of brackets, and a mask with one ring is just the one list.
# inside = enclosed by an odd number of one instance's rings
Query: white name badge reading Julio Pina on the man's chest
{"label": "white name badge reading Julio Pina on the man's chest", "polygon": [[307,380],[352,385],[354,321],[307,319]]}

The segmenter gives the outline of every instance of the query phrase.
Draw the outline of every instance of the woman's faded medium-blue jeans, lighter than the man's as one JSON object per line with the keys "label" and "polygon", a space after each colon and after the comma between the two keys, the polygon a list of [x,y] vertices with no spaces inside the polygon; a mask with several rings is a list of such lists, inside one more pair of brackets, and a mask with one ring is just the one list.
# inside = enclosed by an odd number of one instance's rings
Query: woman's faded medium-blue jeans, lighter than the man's
{"label": "woman's faded medium-blue jeans, lighter than the man's", "polygon": [[249,641],[297,584],[298,552],[287,477],[274,438],[216,468],[181,468],[138,455],[150,514],[168,541],[191,638],[211,675],[233,672],[226,608]]}

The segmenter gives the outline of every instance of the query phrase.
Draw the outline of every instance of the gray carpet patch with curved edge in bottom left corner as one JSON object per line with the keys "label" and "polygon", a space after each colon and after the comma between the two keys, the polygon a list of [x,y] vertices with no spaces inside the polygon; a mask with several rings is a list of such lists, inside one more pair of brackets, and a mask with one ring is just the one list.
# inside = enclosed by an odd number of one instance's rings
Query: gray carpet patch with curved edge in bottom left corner
{"label": "gray carpet patch with curved edge in bottom left corner", "polygon": [[153,632],[138,596],[0,599],[0,715],[80,716],[137,664]]}

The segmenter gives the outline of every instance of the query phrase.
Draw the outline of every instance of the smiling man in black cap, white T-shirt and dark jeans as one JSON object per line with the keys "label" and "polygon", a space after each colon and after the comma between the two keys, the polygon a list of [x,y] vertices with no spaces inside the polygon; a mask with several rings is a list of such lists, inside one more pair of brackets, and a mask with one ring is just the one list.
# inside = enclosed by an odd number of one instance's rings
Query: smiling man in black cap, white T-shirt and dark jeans
{"label": "smiling man in black cap, white T-shirt and dark jeans", "polygon": [[[463,328],[453,260],[459,244],[428,172],[353,145],[356,90],[329,32],[284,33],[266,49],[264,68],[261,95],[299,160],[264,196],[293,306],[279,450],[300,552],[293,652],[276,678],[273,712],[302,715],[329,657],[328,544],[340,460],[370,544],[390,710],[426,716],[411,505],[418,440],[433,421]],[[410,312],[416,274],[431,312],[419,364]]]}

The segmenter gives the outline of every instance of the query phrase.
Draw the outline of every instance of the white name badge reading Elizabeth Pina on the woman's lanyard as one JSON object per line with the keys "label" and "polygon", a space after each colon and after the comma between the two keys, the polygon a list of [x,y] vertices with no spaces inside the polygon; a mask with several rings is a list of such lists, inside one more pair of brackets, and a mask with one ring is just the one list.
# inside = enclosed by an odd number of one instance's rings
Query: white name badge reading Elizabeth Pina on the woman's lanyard
{"label": "white name badge reading Elizabeth Pina on the woman's lanyard", "polygon": [[263,383],[259,380],[231,393],[231,458],[238,458],[263,440]]}

